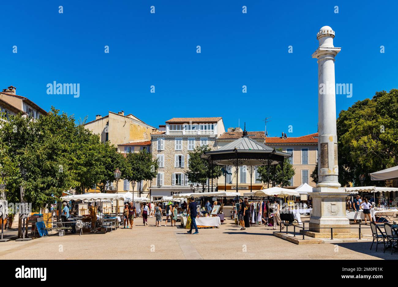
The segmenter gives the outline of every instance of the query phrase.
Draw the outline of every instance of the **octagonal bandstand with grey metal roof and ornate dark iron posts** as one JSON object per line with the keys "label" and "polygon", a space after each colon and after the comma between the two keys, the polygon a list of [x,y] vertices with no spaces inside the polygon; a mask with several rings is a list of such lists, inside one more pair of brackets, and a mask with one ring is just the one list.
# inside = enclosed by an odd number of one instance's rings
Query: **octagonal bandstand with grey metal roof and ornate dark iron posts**
{"label": "octagonal bandstand with grey metal roof and ornate dark iron posts", "polygon": [[[267,187],[269,187],[269,168],[271,165],[276,168],[279,164],[283,174],[283,161],[285,157],[291,157],[291,154],[277,151],[275,148],[252,140],[245,129],[242,138],[234,140],[215,151],[205,151],[201,157],[209,161],[209,173],[213,165],[225,166],[225,172],[230,167],[236,167],[236,171],[238,171],[239,167],[246,166],[250,173],[250,191],[252,191],[252,176],[258,166],[267,165]],[[211,186],[213,191],[213,178],[211,178]],[[224,190],[226,190],[226,187]],[[236,178],[236,192],[238,192],[238,178]]]}

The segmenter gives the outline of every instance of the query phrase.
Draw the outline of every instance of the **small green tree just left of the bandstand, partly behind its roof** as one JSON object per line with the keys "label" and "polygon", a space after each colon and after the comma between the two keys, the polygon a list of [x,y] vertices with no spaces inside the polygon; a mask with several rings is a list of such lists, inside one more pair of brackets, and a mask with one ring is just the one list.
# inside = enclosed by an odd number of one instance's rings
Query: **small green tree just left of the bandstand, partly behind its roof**
{"label": "small green tree just left of the bandstand, partly behind its roof", "polygon": [[213,168],[209,169],[209,162],[201,158],[205,151],[211,151],[211,149],[207,145],[202,145],[191,151],[189,153],[188,170],[185,171],[190,182],[197,182],[202,185],[203,192],[208,178],[217,179],[222,175],[220,165],[213,165]]}

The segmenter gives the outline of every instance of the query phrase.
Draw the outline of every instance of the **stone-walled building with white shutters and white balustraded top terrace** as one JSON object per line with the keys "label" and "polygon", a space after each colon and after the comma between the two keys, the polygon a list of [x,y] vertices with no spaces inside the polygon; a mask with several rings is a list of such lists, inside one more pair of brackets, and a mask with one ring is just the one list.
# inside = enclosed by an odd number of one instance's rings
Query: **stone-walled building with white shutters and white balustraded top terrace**
{"label": "stone-walled building with white shutters and white balustraded top terrace", "polygon": [[[216,139],[224,131],[221,117],[172,118],[166,121],[164,130],[152,133],[152,157],[159,162],[158,175],[152,180],[152,198],[192,192],[190,185],[194,183],[185,175],[189,152],[199,145],[217,149]],[[216,186],[214,181],[213,189]],[[201,188],[195,192],[199,191]]]}

